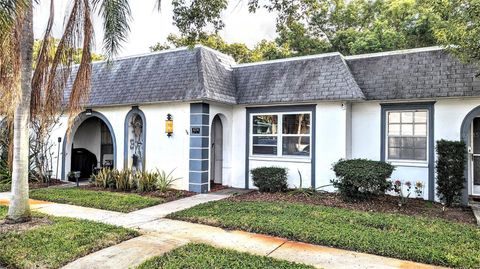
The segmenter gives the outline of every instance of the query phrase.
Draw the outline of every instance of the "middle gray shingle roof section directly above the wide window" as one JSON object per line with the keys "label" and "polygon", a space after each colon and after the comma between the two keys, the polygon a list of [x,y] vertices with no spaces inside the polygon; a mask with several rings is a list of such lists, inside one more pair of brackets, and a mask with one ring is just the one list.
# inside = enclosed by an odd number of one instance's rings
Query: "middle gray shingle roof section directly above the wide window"
{"label": "middle gray shingle roof section directly above the wide window", "polygon": [[239,65],[234,70],[239,104],[364,98],[339,53]]}

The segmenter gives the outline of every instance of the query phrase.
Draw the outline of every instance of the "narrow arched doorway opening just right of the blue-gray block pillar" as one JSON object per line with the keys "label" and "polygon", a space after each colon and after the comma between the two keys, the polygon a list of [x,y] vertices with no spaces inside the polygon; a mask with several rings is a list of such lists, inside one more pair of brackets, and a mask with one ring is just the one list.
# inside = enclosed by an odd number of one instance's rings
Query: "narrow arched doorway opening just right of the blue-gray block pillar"
{"label": "narrow arched doorway opening just right of the blue-gray block pillar", "polygon": [[224,185],[223,182],[223,123],[219,115],[215,115],[210,130],[210,190]]}

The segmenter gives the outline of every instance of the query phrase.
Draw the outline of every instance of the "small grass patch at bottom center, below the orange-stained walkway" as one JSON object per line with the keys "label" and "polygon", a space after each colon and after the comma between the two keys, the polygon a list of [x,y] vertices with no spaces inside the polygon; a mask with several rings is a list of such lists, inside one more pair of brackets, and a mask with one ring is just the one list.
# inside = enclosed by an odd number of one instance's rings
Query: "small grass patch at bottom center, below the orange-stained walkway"
{"label": "small grass patch at bottom center, below the orange-stained walkway", "polygon": [[152,258],[138,267],[138,269],[157,268],[309,269],[313,267],[204,244],[188,244],[163,256]]}

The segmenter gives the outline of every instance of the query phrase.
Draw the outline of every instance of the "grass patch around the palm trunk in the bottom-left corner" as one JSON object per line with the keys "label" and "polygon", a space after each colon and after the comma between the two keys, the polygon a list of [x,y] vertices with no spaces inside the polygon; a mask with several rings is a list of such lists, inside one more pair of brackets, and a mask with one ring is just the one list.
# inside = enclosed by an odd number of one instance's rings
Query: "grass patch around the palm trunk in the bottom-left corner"
{"label": "grass patch around the palm trunk in the bottom-left corner", "polygon": [[[0,219],[7,207],[0,206]],[[134,230],[34,213],[41,224],[0,232],[0,267],[59,268],[68,262],[138,235]],[[21,225],[19,225],[20,227]],[[0,230],[1,231],[1,230]]]}

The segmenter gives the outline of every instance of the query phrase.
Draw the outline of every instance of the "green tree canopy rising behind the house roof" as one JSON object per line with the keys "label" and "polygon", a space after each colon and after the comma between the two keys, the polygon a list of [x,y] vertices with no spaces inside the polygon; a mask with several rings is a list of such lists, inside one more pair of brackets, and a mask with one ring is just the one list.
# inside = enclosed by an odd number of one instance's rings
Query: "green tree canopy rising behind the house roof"
{"label": "green tree canopy rising behind the house roof", "polygon": [[442,45],[463,61],[480,61],[480,0],[249,0],[248,7],[250,12],[276,12],[274,41],[261,41],[252,49],[228,44],[218,35],[224,27],[225,0],[176,0],[174,24],[180,36],[170,35],[168,43],[151,50],[203,44],[238,62],[252,62]]}

